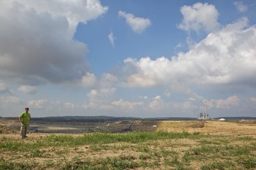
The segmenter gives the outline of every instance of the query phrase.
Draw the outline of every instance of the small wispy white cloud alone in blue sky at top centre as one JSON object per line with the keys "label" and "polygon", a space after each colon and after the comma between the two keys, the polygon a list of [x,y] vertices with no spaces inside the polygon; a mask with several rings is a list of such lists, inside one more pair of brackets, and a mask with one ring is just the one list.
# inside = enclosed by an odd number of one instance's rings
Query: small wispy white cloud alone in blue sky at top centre
{"label": "small wispy white cloud alone in blue sky at top centre", "polygon": [[125,18],[126,23],[138,34],[145,31],[151,25],[151,21],[148,18],[134,17],[133,14],[126,13],[125,11],[118,11],[118,17]]}

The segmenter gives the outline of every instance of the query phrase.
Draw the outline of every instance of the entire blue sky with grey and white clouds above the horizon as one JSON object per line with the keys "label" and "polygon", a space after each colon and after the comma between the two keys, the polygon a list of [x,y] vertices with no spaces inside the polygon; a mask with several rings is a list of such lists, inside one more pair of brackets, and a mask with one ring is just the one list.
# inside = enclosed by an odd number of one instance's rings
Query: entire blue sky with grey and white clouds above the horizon
{"label": "entire blue sky with grey and white clouds above the horizon", "polygon": [[256,1],[0,1],[0,116],[256,117]]}

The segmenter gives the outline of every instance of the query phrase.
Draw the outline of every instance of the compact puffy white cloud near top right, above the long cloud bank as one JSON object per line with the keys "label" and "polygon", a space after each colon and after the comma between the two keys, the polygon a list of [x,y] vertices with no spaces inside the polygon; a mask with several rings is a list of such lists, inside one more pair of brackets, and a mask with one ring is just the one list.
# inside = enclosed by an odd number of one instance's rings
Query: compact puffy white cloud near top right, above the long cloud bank
{"label": "compact puffy white cloud near top right, above the long cloud bank", "polygon": [[195,3],[193,6],[182,6],[180,12],[183,20],[179,28],[185,31],[193,30],[206,32],[216,31],[220,24],[218,23],[218,10],[212,4]]}

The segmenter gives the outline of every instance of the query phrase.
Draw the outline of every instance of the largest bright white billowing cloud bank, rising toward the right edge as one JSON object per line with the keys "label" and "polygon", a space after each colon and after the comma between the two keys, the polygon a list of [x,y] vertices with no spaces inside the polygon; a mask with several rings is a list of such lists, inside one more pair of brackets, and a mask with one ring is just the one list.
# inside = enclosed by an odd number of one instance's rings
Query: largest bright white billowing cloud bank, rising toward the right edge
{"label": "largest bright white billowing cloud bank, rising toward the right edge", "polygon": [[177,87],[189,83],[255,87],[256,27],[247,27],[247,23],[247,18],[241,18],[220,31],[210,33],[189,52],[179,53],[172,59],[145,57],[124,60],[126,67],[135,67],[133,70],[136,72],[127,76],[123,85]]}

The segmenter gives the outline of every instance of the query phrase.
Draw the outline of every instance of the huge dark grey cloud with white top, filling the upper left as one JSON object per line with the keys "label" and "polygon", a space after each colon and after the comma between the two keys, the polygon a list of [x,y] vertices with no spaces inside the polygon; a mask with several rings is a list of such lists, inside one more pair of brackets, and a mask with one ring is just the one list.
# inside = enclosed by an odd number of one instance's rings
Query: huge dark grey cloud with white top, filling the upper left
{"label": "huge dark grey cloud with white top, filling the upper left", "polygon": [[[106,13],[100,1],[0,1],[0,78],[35,85],[80,79],[86,45],[77,24]],[[28,81],[29,80],[29,81]]]}

